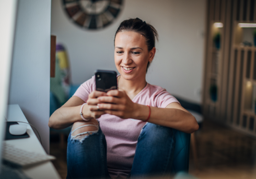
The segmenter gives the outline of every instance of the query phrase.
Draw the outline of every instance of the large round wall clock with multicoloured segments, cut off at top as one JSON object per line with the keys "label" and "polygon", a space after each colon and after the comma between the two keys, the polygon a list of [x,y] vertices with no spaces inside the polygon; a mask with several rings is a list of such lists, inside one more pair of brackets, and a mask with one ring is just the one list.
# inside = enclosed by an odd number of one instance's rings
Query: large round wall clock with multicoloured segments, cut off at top
{"label": "large round wall clock with multicoloured segments, cut off at top", "polygon": [[78,26],[102,29],[111,24],[122,9],[123,0],[63,0],[63,9]]}

